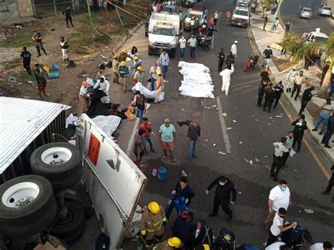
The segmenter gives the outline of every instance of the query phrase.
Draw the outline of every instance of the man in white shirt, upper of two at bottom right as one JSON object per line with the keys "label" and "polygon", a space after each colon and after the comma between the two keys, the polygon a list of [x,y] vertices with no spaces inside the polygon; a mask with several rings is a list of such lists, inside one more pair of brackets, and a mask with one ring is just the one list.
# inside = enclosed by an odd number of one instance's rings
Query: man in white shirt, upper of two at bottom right
{"label": "man in white shirt, upper of two at bottom right", "polygon": [[290,205],[291,197],[290,197],[290,189],[287,187],[286,180],[280,180],[276,187],[273,187],[269,193],[268,197],[268,216],[266,218],[265,227],[269,229],[271,224],[273,223],[273,217],[279,208],[287,208]]}

